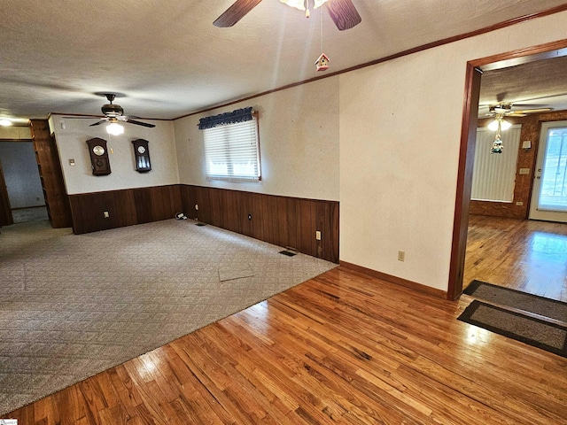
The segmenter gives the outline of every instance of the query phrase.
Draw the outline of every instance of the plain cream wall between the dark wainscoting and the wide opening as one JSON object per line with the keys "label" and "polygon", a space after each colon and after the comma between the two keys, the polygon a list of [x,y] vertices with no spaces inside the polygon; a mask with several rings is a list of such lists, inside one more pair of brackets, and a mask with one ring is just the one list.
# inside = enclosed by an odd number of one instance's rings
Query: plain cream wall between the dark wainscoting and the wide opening
{"label": "plain cream wall between the dark wainscoting and the wide opening", "polygon": [[565,39],[566,21],[532,19],[340,75],[341,260],[447,290],[466,63]]}

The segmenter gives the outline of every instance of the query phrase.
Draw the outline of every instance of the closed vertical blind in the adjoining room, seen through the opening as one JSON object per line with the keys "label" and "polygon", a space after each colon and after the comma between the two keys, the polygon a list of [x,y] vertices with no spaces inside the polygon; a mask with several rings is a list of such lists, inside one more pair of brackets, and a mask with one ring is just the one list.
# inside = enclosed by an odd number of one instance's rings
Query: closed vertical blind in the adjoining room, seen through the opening
{"label": "closed vertical blind in the adjoining room, seen through the opening", "polygon": [[502,153],[490,153],[496,132],[477,128],[471,199],[512,202],[516,184],[517,152],[522,126],[501,132]]}

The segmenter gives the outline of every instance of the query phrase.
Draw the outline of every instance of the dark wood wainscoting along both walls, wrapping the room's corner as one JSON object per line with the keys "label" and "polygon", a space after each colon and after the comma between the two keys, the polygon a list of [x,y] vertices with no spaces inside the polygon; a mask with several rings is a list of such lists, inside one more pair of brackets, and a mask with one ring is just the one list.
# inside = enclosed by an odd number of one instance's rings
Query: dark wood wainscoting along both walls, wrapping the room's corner
{"label": "dark wood wainscoting along both walls, wrapping the room's corner", "polygon": [[77,235],[173,219],[183,212],[190,219],[338,263],[338,201],[183,184],[82,193],[69,201]]}

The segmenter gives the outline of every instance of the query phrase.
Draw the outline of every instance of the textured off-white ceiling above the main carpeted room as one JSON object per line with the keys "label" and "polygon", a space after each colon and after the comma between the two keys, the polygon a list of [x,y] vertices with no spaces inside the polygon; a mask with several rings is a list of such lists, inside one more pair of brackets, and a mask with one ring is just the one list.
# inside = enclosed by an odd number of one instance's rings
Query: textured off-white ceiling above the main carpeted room
{"label": "textured off-white ceiling above the main carpeted room", "polygon": [[[353,0],[362,22],[338,31],[277,0],[229,28],[212,23],[232,0],[3,0],[0,116],[100,113],[113,92],[127,114],[173,119],[321,75],[321,43],[331,73],[564,3]],[[485,99],[513,95],[498,90]]]}

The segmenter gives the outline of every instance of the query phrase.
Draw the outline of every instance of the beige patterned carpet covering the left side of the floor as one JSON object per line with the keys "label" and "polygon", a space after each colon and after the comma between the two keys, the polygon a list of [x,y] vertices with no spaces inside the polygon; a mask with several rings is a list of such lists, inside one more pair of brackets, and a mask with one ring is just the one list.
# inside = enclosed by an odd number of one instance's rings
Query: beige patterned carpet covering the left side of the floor
{"label": "beige patterned carpet covering the left side of the floor", "polygon": [[0,414],[337,266],[281,250],[192,220],[1,228]]}

